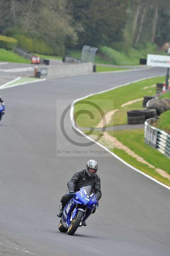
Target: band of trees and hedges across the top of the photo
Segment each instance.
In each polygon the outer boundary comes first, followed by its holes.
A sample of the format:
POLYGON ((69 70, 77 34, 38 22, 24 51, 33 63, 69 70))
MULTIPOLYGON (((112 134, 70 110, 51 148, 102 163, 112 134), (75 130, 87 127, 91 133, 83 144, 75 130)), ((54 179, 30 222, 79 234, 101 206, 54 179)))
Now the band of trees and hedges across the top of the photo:
POLYGON ((45 54, 83 44, 127 53, 170 41, 169 0, 1 0, 0 10, 0 33, 45 54))

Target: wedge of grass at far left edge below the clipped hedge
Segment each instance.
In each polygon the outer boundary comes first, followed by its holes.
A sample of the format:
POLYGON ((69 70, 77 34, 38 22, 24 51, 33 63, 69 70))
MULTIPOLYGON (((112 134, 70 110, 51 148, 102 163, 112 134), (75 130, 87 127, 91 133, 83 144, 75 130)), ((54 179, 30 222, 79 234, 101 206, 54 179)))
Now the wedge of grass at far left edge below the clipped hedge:
POLYGON ((16 63, 31 63, 30 60, 24 59, 16 53, 0 48, 0 61, 16 62, 16 63))

